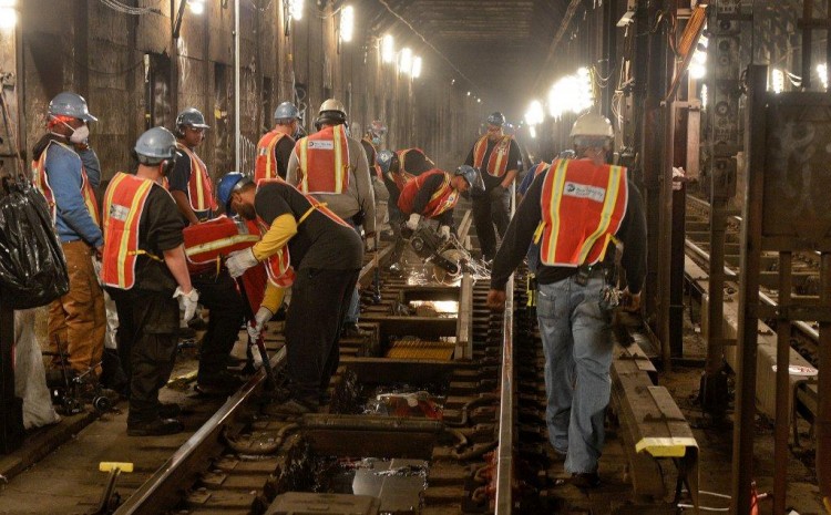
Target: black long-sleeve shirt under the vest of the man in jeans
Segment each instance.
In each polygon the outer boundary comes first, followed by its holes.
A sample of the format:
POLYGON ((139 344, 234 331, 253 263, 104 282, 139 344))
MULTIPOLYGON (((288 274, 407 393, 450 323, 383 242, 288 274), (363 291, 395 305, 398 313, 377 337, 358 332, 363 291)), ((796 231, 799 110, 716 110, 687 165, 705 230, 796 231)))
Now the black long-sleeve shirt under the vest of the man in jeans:
MULTIPOLYGON (((527 253, 534 231, 542 220, 540 198, 546 175, 547 172, 534 179, 516 209, 516 215, 507 226, 505 237, 502 239, 502 245, 493 260, 493 269, 491 270, 491 288, 493 289, 505 289, 507 278, 520 266, 527 253)), ((632 181, 627 181, 627 183, 629 197, 626 204, 626 213, 615 236, 624 244, 622 265, 626 270, 629 291, 638 293, 646 275, 646 218, 640 192, 632 181)), ((564 230, 567 230, 567 228, 564 230)), ((613 266, 614 259, 615 253, 609 249, 604 262, 613 266)), ((541 285, 550 285, 576 272, 577 269, 574 267, 550 267, 541 264, 536 271, 536 281, 541 285)))

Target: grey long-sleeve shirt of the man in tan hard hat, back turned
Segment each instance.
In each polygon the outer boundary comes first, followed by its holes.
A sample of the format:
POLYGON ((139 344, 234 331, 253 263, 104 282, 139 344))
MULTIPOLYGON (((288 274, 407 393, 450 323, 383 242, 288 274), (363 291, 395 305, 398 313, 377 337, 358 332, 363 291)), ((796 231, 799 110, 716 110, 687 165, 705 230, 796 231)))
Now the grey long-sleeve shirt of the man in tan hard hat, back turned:
MULTIPOLYGON (((347 137, 349 144, 349 188, 346 193, 315 194, 315 197, 327 204, 336 215, 349 222, 358 212, 363 210, 363 230, 376 231, 376 196, 372 178, 369 174, 367 154, 360 142, 347 137)), ((299 142, 298 142, 299 144, 299 142)), ((291 153, 286 171, 286 182, 297 186, 299 166, 297 152, 291 153)))

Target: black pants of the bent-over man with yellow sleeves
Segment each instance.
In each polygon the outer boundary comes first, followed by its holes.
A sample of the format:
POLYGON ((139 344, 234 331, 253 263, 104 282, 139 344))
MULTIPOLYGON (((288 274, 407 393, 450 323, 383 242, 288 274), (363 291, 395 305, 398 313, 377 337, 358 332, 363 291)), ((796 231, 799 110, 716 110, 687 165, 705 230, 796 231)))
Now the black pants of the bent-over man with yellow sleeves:
POLYGON ((338 369, 340 328, 359 270, 298 270, 286 316, 288 375, 298 400, 317 405, 338 369))

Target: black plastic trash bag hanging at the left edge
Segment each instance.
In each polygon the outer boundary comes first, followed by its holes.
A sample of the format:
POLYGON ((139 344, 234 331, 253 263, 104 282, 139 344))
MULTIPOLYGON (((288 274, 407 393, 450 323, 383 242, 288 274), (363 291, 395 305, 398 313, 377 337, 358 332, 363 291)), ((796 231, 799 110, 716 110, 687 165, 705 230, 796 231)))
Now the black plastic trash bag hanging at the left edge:
POLYGON ((45 306, 69 291, 63 249, 47 199, 29 181, 2 178, 0 297, 13 309, 45 306))

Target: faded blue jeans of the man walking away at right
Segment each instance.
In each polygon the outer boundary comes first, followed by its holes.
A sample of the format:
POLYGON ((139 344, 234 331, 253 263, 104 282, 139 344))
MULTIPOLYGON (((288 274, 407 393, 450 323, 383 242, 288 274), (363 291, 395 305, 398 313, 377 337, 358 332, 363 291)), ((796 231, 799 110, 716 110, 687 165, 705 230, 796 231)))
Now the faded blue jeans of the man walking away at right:
POLYGON ((602 271, 585 286, 575 278, 540 285, 536 316, 545 352, 548 441, 566 455, 565 470, 581 473, 596 472, 603 451, 613 341, 612 311, 599 306, 602 271))

